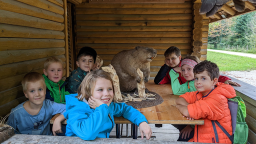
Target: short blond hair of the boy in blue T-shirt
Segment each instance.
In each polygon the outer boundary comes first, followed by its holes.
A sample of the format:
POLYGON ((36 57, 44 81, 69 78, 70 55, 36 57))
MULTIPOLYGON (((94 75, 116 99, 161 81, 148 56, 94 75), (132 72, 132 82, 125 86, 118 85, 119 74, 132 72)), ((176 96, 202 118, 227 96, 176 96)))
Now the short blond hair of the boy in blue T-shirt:
POLYGON ((35 83, 37 81, 42 81, 43 87, 44 87, 44 89, 46 89, 46 85, 45 85, 44 78, 43 78, 42 74, 40 74, 38 72, 26 73, 21 81, 23 92, 26 92, 26 90, 27 90, 26 86, 28 83, 30 83, 30 82, 35 83))

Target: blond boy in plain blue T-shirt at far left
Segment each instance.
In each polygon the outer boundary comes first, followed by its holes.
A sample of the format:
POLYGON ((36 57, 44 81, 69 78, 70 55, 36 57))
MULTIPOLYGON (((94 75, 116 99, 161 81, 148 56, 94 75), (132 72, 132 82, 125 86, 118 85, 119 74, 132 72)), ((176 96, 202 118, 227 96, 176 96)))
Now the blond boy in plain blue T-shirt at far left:
MULTIPOLYGON (((25 74, 22 80, 22 88, 25 102, 11 109, 8 124, 16 129, 15 133, 52 135, 50 132, 50 119, 56 113, 65 112, 65 104, 56 103, 45 98, 46 85, 40 73, 30 72, 25 74)), ((54 120, 52 126, 53 135, 62 133, 61 122, 63 115, 54 120)))

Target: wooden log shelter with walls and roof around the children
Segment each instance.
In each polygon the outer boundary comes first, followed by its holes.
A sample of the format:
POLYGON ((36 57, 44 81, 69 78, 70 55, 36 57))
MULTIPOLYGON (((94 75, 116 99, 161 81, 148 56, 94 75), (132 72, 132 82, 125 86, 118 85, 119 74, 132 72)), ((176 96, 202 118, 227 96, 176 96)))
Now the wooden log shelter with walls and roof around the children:
MULTIPOLYGON (((204 60, 209 22, 255 10, 246 1, 245 11, 237 12, 229 1, 206 17, 199 14, 200 5, 200 0, 0 0, 0 116, 26 100, 23 76, 43 73, 48 57, 63 61, 67 77, 83 46, 93 47, 103 66, 121 50, 149 46, 157 50, 150 63, 152 79, 166 48, 177 46, 182 57, 204 60)), ((255 138, 253 128, 249 134, 255 138)))

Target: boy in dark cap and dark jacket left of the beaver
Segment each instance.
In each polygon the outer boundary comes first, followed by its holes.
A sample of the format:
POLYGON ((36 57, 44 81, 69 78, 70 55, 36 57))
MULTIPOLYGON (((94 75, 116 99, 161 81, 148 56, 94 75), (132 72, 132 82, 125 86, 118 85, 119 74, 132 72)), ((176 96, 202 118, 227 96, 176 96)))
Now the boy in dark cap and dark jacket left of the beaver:
POLYGON ((77 55, 77 69, 73 70, 67 77, 66 88, 70 93, 77 93, 77 89, 85 75, 93 68, 97 52, 88 46, 82 47, 77 55))

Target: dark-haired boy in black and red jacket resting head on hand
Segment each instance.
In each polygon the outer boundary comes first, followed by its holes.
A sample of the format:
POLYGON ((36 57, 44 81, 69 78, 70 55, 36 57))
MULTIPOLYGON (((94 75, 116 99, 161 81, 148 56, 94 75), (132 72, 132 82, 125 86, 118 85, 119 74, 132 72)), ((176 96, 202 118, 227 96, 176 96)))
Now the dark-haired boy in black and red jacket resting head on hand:
MULTIPOLYGON (((170 83, 170 76, 169 71, 171 68, 179 67, 181 63, 181 54, 180 50, 176 46, 170 46, 168 49, 164 52, 164 63, 160 70, 157 72, 156 76, 154 77, 154 83, 155 84, 164 84, 164 83, 170 83)), ((178 76, 179 83, 185 83, 186 80, 184 77, 182 77, 179 73, 178 76)))

